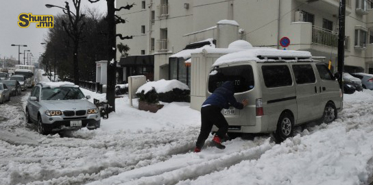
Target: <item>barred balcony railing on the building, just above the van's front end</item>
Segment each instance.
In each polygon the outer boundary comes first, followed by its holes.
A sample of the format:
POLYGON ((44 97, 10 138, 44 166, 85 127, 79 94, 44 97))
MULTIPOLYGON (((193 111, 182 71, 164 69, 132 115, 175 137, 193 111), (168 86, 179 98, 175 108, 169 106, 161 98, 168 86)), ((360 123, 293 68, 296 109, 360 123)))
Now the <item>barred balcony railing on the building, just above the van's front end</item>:
MULTIPOLYGON (((338 33, 333 32, 322 27, 312 27, 312 42, 318 45, 325 45, 329 47, 338 47, 338 33)), ((345 37, 345 49, 348 50, 348 43, 350 38, 345 37)))

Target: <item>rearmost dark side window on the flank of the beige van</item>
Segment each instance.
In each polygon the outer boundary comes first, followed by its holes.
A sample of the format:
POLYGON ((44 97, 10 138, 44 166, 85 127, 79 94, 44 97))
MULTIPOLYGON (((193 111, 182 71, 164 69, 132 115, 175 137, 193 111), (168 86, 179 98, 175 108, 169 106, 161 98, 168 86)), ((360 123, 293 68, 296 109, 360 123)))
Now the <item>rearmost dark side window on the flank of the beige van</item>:
POLYGON ((291 86, 289 67, 286 65, 262 66, 264 83, 267 88, 291 86))

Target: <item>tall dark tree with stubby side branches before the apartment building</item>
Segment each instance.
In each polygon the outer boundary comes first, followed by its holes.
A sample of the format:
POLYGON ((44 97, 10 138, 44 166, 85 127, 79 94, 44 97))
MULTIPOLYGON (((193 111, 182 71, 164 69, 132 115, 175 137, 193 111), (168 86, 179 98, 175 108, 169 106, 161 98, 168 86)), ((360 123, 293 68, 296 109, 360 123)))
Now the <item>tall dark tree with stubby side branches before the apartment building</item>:
MULTIPOLYGON (((100 0, 88 0, 91 3, 96 3, 100 0)), ((109 105, 112 107, 112 111, 115 111, 115 82, 117 73, 117 60, 116 60, 116 47, 115 41, 116 37, 119 36, 121 40, 131 39, 132 36, 122 36, 121 34, 116 34, 116 25, 119 23, 125 23, 125 20, 117 15, 122 9, 130 10, 135 4, 127 4, 119 9, 115 8, 115 0, 106 0, 106 5, 108 6, 108 14, 106 15, 106 21, 108 21, 108 86, 106 90, 106 99, 109 105)))

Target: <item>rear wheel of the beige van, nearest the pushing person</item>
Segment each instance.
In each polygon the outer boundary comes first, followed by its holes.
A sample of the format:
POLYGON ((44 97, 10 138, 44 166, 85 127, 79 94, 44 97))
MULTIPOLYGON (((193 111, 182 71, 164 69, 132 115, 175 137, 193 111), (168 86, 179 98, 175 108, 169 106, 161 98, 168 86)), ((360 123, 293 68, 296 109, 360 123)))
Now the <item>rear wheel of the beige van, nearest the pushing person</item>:
POLYGON ((293 136, 293 116, 287 112, 283 112, 278 119, 275 137, 278 142, 282 142, 285 139, 293 136))

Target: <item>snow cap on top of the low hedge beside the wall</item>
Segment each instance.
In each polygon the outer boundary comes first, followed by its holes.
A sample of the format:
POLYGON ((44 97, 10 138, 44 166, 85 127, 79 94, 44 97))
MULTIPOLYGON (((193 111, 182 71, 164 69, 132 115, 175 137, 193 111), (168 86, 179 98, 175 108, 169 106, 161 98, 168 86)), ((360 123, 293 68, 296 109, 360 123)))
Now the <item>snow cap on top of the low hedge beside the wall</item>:
POLYGON ((156 89, 157 93, 166 93, 168 91, 173 90, 174 88, 180 88, 181 90, 189 90, 189 87, 186 86, 186 84, 176 79, 160 79, 156 82, 147 82, 146 84, 143 84, 143 86, 137 89, 136 93, 141 93, 141 91, 144 90, 144 93, 146 94, 147 92, 152 90, 153 87, 156 89))

